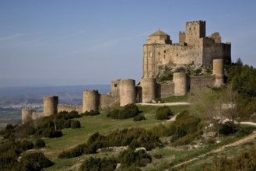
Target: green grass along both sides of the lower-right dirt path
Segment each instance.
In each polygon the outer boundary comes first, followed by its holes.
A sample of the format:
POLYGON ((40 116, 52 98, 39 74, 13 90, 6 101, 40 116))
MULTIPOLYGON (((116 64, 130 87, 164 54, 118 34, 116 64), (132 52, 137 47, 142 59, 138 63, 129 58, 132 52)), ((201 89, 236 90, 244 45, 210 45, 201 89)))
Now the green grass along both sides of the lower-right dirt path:
MULTIPOLYGON (((250 129, 251 131, 255 130, 255 127, 252 126, 246 126, 241 125, 241 127, 247 127, 247 129, 250 129)), ((243 134, 243 136, 240 136, 238 134, 233 134, 230 136, 223 136, 220 137, 219 140, 221 141, 219 144, 213 144, 213 145, 205 145, 203 148, 195 148, 195 149, 186 149, 186 148, 174 148, 171 145, 167 145, 164 148, 158 148, 155 149, 152 153, 163 155, 163 158, 161 159, 161 162, 152 163, 146 166, 146 170, 160 170, 160 169, 171 169, 173 166, 188 161, 189 159, 193 159, 195 157, 198 157, 200 155, 203 155, 207 152, 211 152, 212 150, 219 148, 223 145, 228 145, 234 141, 239 140, 240 138, 246 136, 246 134, 243 134)), ((251 142, 247 143, 246 145, 240 145, 235 147, 229 147, 225 148, 223 152, 219 152, 218 156, 234 156, 237 154, 237 152, 245 149, 245 148, 251 148, 251 146, 254 145, 254 148, 256 148, 256 143, 251 142)), ((186 168, 187 170, 201 170, 201 165, 205 164, 206 162, 212 163, 214 157, 216 154, 209 154, 206 156, 200 157, 198 160, 195 160, 193 162, 189 162, 187 165, 181 166, 179 169, 186 168)))

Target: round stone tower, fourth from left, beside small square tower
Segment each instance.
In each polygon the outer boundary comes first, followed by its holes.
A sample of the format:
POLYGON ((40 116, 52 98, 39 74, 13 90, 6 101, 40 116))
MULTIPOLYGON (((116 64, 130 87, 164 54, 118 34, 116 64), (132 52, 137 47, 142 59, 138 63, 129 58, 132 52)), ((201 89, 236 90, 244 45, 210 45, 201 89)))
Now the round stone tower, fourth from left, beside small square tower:
POLYGON ((136 102, 135 80, 122 79, 120 82, 120 106, 136 102))

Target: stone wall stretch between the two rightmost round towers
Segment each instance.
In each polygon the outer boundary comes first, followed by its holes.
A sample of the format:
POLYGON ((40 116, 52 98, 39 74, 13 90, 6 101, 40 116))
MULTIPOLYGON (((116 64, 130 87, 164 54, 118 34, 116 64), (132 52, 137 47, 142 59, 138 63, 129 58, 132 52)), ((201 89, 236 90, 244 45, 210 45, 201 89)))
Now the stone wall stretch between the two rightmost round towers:
POLYGON ((215 83, 215 75, 190 76, 190 91, 198 87, 213 86, 215 83))

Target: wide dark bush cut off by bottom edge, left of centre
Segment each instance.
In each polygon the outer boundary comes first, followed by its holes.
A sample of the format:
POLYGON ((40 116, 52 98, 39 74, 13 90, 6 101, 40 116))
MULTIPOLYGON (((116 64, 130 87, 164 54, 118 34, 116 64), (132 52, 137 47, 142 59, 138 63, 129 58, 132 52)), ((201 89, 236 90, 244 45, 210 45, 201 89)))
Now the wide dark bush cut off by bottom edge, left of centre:
POLYGON ((114 170, 117 167, 117 160, 114 159, 114 157, 110 158, 93 158, 90 157, 89 159, 86 159, 85 162, 82 163, 82 166, 80 166, 81 171, 89 171, 89 170, 114 170))

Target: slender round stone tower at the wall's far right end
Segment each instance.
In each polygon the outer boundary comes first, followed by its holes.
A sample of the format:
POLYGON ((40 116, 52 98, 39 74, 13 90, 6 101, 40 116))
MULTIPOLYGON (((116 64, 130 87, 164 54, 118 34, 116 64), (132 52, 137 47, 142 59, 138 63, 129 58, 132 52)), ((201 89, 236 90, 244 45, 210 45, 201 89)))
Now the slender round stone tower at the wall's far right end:
POLYGON ((212 74, 215 75, 215 84, 214 86, 223 86, 224 83, 224 63, 223 59, 214 59, 213 60, 213 72, 212 74))

